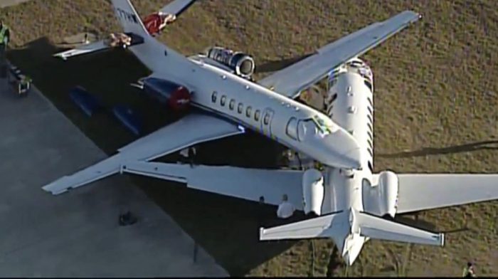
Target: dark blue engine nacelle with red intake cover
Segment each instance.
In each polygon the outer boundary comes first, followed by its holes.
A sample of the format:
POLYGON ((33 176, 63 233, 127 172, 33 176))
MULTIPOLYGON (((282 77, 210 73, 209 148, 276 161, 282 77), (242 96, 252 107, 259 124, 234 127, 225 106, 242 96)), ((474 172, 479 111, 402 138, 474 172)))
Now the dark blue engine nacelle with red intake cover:
POLYGON ((140 88, 159 102, 174 110, 185 110, 191 100, 191 92, 179 84, 161 78, 143 78, 140 88))

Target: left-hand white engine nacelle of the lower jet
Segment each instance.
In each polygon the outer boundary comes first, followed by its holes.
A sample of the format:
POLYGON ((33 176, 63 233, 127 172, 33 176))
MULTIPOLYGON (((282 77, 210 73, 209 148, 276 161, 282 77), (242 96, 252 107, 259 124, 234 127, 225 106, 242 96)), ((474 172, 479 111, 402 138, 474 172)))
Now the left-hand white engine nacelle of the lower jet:
POLYGON ((302 176, 302 202, 304 214, 322 214, 324 177, 317 169, 307 169, 302 176))

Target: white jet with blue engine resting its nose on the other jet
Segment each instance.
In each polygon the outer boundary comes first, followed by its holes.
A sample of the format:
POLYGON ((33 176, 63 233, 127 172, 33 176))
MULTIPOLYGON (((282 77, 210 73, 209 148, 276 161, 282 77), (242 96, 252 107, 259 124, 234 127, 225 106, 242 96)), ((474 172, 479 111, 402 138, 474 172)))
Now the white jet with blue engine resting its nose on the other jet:
MULTIPOLYGON (((179 6, 179 0, 173 3, 179 6)), ((254 83, 247 77, 254 68, 247 55, 211 48, 204 56, 186 58, 149 35, 128 0, 113 0, 112 5, 124 34, 131 38, 127 49, 153 72, 139 80, 137 86, 176 110, 189 105, 206 113, 192 112, 179 122, 119 149, 115 156, 43 186, 53 194, 120 172, 124 162, 149 161, 193 144, 242 134, 246 128, 331 167, 359 169, 364 155, 356 139, 327 115, 293 98, 326 77, 329 70, 419 19, 418 14, 405 11, 388 21, 374 23, 254 83)), ((101 50, 99 43, 95 43, 97 51, 101 50)), ((91 52, 92 46, 83 48, 91 52)), ((72 50, 56 56, 68 58, 78 54, 83 53, 72 50)))

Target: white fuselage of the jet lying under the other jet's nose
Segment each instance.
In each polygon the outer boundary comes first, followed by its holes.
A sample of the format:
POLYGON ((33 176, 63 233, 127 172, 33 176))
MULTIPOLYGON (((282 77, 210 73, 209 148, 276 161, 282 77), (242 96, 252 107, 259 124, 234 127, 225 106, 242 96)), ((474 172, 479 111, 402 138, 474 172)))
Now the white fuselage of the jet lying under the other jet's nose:
POLYGON ((328 167, 325 174, 324 214, 350 212, 350 228, 334 242, 346 261, 359 255, 366 238, 356 231, 354 212, 364 211, 364 187, 370 186, 373 172, 373 75, 368 65, 355 59, 334 70, 329 77, 327 115, 348 130, 359 143, 361 169, 328 167))

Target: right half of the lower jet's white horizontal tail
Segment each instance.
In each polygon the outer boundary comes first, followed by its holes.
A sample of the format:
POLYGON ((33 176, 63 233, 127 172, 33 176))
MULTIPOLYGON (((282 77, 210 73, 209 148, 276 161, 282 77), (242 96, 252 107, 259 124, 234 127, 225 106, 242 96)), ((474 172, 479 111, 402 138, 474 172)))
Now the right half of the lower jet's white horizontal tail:
POLYGON ((444 246, 443 233, 431 233, 365 213, 356 215, 361 236, 384 241, 444 246))

